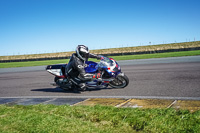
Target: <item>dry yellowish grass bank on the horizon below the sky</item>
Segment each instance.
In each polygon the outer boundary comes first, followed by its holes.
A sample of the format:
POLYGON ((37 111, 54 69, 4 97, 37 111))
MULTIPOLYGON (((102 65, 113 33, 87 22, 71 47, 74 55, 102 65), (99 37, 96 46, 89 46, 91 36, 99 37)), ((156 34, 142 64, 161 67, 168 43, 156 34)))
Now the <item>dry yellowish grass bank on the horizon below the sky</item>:
MULTIPOLYGON (((74 46, 75 48, 76 46, 74 46)), ((147 45, 137 47, 121 47, 121 48, 108 48, 91 50, 94 54, 112 54, 112 53, 129 53, 129 52, 144 52, 144 51, 160 51, 169 49, 183 49, 200 47, 200 41, 182 42, 171 44, 147 45)), ((69 57, 72 52, 58 52, 58 53, 45 53, 45 54, 30 54, 30 55, 14 55, 14 56, 0 56, 0 60, 17 60, 17 59, 38 59, 38 58, 52 58, 52 57, 69 57)))

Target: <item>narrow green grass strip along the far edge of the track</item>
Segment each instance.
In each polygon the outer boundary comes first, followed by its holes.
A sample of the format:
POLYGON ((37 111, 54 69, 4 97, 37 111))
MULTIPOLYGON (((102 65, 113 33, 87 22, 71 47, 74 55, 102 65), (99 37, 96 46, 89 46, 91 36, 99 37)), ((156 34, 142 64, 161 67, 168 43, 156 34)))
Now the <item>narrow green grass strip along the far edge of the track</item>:
MULTIPOLYGON (((182 52, 168 52, 168 53, 157 53, 157 54, 112 56, 112 58, 114 58, 115 60, 134 60, 134 59, 149 59, 149 58, 166 58, 166 57, 194 56, 194 55, 200 55, 200 50, 182 51, 182 52)), ((92 61, 97 61, 96 59, 91 59, 91 60, 92 61)), ((42 65, 67 63, 68 61, 69 61, 69 59, 0 63, 0 68, 42 66, 42 65)))

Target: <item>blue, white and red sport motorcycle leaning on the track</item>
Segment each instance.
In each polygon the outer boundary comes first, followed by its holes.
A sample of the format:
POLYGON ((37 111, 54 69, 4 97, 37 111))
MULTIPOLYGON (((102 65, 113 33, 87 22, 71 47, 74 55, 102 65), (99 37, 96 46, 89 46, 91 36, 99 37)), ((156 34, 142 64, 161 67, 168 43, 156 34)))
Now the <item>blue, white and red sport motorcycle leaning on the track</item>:
MULTIPOLYGON (((100 62, 93 61, 85 62, 86 73, 102 72, 100 79, 86 81, 87 88, 125 88, 129 84, 128 77, 121 72, 119 64, 113 59, 101 56, 100 62)), ((77 88, 69 79, 70 77, 65 74, 65 67, 67 64, 48 65, 46 70, 55 76, 52 85, 58 86, 64 90, 77 88)))

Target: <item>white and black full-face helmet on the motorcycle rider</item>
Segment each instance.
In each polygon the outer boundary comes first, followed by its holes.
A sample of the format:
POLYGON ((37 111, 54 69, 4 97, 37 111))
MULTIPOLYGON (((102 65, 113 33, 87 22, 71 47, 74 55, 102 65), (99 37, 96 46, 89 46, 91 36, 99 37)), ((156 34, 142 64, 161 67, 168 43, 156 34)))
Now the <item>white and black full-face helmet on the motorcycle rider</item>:
POLYGON ((76 48, 76 54, 78 55, 78 57, 83 60, 83 61, 87 61, 88 57, 89 57, 89 50, 88 47, 85 45, 78 45, 76 48))

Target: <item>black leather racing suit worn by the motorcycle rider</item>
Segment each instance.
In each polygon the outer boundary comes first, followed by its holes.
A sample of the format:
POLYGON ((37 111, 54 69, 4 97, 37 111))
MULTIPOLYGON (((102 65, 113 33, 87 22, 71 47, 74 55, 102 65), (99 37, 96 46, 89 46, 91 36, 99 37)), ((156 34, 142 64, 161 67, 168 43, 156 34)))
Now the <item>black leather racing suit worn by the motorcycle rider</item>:
MULTIPOLYGON (((89 53, 89 58, 100 59, 100 56, 89 53)), ((85 62, 77 57, 77 54, 72 54, 69 63, 65 68, 65 73, 70 77, 70 80, 79 86, 79 84, 89 81, 95 77, 95 74, 85 72, 85 62)))

